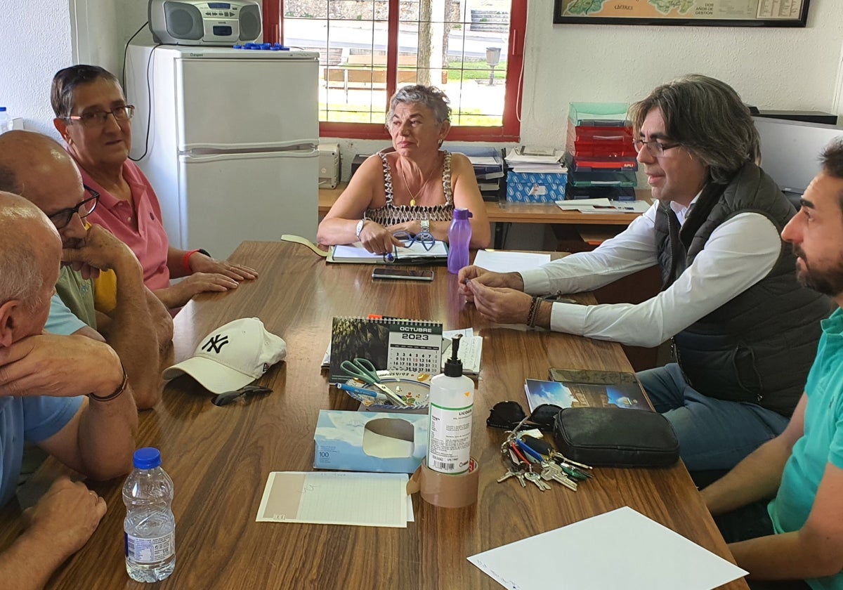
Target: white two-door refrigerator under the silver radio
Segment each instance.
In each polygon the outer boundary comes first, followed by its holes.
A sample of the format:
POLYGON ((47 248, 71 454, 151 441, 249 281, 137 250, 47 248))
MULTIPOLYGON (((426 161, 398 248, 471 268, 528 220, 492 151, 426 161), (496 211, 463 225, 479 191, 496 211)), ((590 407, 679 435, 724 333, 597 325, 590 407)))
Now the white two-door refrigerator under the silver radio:
POLYGON ((228 258, 246 239, 316 239, 319 54, 129 46, 132 159, 169 243, 228 258))

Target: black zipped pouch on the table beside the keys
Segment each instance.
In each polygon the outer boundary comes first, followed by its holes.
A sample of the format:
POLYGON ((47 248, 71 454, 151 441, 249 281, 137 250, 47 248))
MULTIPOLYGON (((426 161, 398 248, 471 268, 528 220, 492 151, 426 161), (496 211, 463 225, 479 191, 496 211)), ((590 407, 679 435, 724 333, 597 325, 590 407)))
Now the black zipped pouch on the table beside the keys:
POLYGON ((556 448, 593 467, 668 467, 679 441, 658 412, 623 408, 566 408, 553 424, 556 448))

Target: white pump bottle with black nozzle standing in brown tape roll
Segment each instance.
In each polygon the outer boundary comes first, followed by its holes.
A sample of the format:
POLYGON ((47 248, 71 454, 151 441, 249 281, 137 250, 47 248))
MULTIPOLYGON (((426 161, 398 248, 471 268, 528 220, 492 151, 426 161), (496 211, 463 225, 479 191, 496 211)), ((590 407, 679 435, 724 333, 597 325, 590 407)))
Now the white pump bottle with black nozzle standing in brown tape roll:
POLYGON ((427 410, 427 469, 451 475, 469 470, 474 410, 474 381, 463 375, 463 363, 457 358, 459 339, 456 335, 451 342, 445 372, 430 380, 427 410))

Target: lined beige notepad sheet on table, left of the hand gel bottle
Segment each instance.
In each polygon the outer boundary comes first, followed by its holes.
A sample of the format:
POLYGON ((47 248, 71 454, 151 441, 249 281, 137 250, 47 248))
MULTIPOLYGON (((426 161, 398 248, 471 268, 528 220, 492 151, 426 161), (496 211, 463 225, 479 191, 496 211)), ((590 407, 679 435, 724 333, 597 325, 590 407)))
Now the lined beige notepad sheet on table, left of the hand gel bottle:
POLYGON ((406 528, 407 480, 401 473, 273 471, 255 522, 406 528))

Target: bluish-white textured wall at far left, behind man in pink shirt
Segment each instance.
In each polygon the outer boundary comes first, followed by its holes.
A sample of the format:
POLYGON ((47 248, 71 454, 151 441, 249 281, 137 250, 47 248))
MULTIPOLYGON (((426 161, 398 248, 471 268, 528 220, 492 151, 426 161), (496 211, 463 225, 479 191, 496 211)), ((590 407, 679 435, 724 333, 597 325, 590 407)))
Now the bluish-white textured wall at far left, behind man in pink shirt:
POLYGON ((72 63, 67 0, 0 0, 0 106, 24 126, 52 132, 50 83, 72 63))

